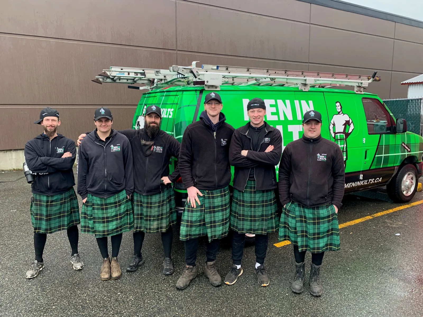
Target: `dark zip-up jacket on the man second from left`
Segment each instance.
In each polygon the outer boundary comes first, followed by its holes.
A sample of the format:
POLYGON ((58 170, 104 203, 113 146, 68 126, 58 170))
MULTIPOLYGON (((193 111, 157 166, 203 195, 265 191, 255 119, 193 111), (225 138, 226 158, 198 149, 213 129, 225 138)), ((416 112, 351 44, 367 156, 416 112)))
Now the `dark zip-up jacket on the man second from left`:
MULTIPOLYGON (((96 129, 97 130, 97 129, 96 129)), ((134 167, 127 137, 112 130, 105 141, 92 131, 78 149, 78 194, 108 198, 125 189, 134 191, 134 167)))

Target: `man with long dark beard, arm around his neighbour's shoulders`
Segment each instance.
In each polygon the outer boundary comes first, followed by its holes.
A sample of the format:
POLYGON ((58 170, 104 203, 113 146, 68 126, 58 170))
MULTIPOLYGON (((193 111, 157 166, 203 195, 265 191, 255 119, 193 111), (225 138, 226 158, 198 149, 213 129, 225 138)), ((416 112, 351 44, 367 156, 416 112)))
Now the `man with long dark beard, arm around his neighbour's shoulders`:
MULTIPOLYGON (((170 186, 179 178, 179 169, 169 173, 170 159, 178 158, 181 144, 160 129, 162 110, 152 105, 146 108, 144 128, 122 130, 132 145, 134 160, 134 255, 126 271, 136 271, 145 261, 141 249, 146 233, 160 232, 165 260, 163 274, 173 273, 172 251, 176 209, 173 189, 170 186)), ((80 139, 85 134, 80 135, 80 139)), ((78 141, 79 142, 79 141, 78 141)))

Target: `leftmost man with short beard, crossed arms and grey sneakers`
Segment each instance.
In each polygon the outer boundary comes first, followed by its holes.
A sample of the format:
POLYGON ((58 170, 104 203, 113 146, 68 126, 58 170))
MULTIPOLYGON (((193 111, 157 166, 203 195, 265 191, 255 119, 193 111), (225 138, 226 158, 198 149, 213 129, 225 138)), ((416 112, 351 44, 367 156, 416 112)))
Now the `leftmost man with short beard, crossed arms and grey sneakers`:
POLYGON ((44 132, 25 145, 25 161, 34 175, 31 184, 31 223, 34 228, 35 260, 26 273, 32 279, 44 268, 43 251, 48 233, 67 230, 71 244, 71 263, 81 270, 84 263, 78 253, 80 223, 78 200, 72 167, 76 158, 75 142, 57 133, 59 112, 50 107, 41 110, 35 121, 44 132))

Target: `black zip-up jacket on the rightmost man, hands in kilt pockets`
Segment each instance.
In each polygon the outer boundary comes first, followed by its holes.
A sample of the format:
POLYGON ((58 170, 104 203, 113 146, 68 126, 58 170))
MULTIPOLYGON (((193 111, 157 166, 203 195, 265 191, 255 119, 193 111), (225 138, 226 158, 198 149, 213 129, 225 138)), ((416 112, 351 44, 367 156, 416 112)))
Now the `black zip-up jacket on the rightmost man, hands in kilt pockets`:
POLYGON ((279 198, 307 208, 342 206, 345 167, 341 148, 321 137, 289 142, 279 164, 279 198))

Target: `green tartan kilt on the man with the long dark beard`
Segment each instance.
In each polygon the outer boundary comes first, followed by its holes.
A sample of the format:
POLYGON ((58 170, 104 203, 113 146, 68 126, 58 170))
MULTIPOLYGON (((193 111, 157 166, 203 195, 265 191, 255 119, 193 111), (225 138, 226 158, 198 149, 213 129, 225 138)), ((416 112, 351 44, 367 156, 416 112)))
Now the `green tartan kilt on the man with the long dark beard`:
POLYGON ((159 194, 134 193, 134 232, 166 232, 176 224, 175 197, 169 186, 159 194))

